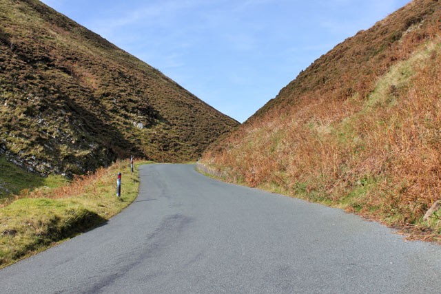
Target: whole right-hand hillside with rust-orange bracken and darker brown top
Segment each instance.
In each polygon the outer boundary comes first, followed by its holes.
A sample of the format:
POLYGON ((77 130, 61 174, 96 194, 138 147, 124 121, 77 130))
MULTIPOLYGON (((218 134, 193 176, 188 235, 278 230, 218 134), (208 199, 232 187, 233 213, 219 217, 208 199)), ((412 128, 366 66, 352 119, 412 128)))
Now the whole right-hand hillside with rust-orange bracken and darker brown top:
POLYGON ((203 164, 250 186, 440 231, 441 3, 415 0, 321 56, 203 164))

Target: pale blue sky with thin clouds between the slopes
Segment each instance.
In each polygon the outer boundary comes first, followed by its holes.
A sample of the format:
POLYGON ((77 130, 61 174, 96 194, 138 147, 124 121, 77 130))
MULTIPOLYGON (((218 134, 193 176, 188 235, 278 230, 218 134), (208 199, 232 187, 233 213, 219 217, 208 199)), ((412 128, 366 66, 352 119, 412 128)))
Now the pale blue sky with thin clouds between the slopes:
POLYGON ((409 0, 43 0, 243 122, 409 0))

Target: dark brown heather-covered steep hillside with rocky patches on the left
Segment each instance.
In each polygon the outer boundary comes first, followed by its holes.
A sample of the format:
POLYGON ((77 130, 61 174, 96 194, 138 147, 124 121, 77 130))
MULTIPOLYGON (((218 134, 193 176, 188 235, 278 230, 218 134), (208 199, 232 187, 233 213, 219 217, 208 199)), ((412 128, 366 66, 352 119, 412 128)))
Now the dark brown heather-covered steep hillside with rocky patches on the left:
POLYGON ((83 174, 134 154, 195 160, 238 125, 37 0, 0 0, 0 155, 83 174))

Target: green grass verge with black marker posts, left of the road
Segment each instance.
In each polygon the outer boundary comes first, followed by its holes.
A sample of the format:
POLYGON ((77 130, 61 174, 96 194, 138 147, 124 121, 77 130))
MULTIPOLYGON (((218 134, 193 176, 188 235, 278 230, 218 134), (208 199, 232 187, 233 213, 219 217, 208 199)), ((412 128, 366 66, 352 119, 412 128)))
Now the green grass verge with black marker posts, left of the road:
POLYGON ((107 221, 133 202, 138 190, 138 169, 132 174, 130 163, 121 161, 63 187, 15 196, 0 208, 0 268, 107 221), (116 197, 118 172, 121 198, 116 197))

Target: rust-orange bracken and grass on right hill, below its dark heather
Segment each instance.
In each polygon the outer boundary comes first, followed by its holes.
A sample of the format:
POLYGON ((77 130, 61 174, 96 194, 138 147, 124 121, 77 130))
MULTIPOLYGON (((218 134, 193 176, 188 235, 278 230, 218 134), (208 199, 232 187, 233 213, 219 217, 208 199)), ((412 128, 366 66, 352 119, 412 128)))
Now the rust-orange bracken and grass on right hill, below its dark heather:
POLYGON ((441 210, 423 218, 441 195, 440 62, 437 33, 373 76, 364 94, 293 95, 295 103, 209 147, 201 163, 227 171, 229 182, 339 207, 410 239, 441 243, 441 210))

